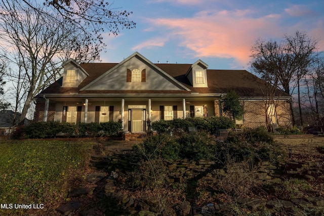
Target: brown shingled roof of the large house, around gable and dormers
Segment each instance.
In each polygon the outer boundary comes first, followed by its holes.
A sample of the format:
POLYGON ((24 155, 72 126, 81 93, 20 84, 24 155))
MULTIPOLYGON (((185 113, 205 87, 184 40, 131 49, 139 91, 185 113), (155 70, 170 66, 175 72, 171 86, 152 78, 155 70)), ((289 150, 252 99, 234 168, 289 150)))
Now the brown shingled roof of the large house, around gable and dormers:
MULTIPOLYGON (((268 84, 255 76, 254 74, 246 70, 211 70, 207 69, 208 88, 193 88, 191 83, 185 74, 191 68, 191 64, 155 64, 161 70, 167 72, 177 81, 182 83, 190 91, 81 91, 87 84, 98 78, 103 73, 107 72, 118 63, 83 63, 80 64, 85 71, 89 74, 87 78, 79 84, 77 88, 61 88, 62 77, 56 82, 51 84, 47 89, 40 94, 147 94, 147 93, 159 93, 159 94, 177 94, 177 93, 199 93, 199 94, 225 94, 231 90, 234 90, 241 97, 263 97, 268 84)), ((282 97, 290 97, 288 94, 277 90, 277 95, 282 97)))

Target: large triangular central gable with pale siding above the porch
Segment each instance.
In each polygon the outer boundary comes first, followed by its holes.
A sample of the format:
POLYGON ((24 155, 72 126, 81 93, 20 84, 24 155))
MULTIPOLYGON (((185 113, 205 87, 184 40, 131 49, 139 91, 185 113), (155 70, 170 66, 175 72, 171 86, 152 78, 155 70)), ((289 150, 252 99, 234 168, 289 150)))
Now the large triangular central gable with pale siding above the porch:
POLYGON ((91 81, 80 91, 87 90, 186 90, 185 85, 135 52, 128 58, 91 81), (127 82, 127 70, 146 70, 145 82, 127 82), (164 83, 161 85, 160 83, 164 83))

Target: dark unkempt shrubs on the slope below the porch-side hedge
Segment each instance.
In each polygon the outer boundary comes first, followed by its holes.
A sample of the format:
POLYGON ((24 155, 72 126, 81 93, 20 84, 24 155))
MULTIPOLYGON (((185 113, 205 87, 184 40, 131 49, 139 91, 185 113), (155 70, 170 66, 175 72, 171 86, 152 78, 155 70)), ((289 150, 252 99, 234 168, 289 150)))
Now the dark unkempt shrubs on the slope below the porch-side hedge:
POLYGON ((232 133, 225 142, 216 142, 206 131, 183 133, 182 136, 158 134, 134 146, 143 159, 217 160, 223 164, 249 160, 277 163, 282 155, 266 128, 245 129, 232 133))

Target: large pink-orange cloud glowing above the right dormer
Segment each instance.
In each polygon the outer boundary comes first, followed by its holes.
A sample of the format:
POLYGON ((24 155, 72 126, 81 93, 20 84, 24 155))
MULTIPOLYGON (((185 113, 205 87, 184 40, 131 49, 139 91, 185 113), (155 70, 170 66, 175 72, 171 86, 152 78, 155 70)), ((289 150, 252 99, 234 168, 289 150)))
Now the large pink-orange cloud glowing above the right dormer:
MULTIPOLYGON (((201 11, 192 18, 159 18, 148 21, 155 28, 166 28, 169 38, 176 39, 179 46, 193 50, 195 57, 235 58, 246 64, 255 35, 273 34, 276 31, 273 23, 280 17, 270 14, 261 18, 249 18, 251 13, 249 10, 201 11)), ((148 40, 138 47, 144 48, 145 44, 151 46, 154 42, 156 40, 148 40)))

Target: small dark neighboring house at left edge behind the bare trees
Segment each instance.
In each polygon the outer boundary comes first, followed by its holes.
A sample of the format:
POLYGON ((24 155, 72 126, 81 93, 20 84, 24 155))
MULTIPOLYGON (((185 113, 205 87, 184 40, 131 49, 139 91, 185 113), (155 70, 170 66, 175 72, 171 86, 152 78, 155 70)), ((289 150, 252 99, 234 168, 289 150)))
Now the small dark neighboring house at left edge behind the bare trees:
MULTIPOLYGON (((12 110, 2 110, 0 111, 0 135, 6 136, 10 135, 14 127, 19 124, 20 113, 16 114, 16 119, 14 121, 15 112, 12 110)), ((25 118, 21 124, 26 125, 29 120, 25 118)))

